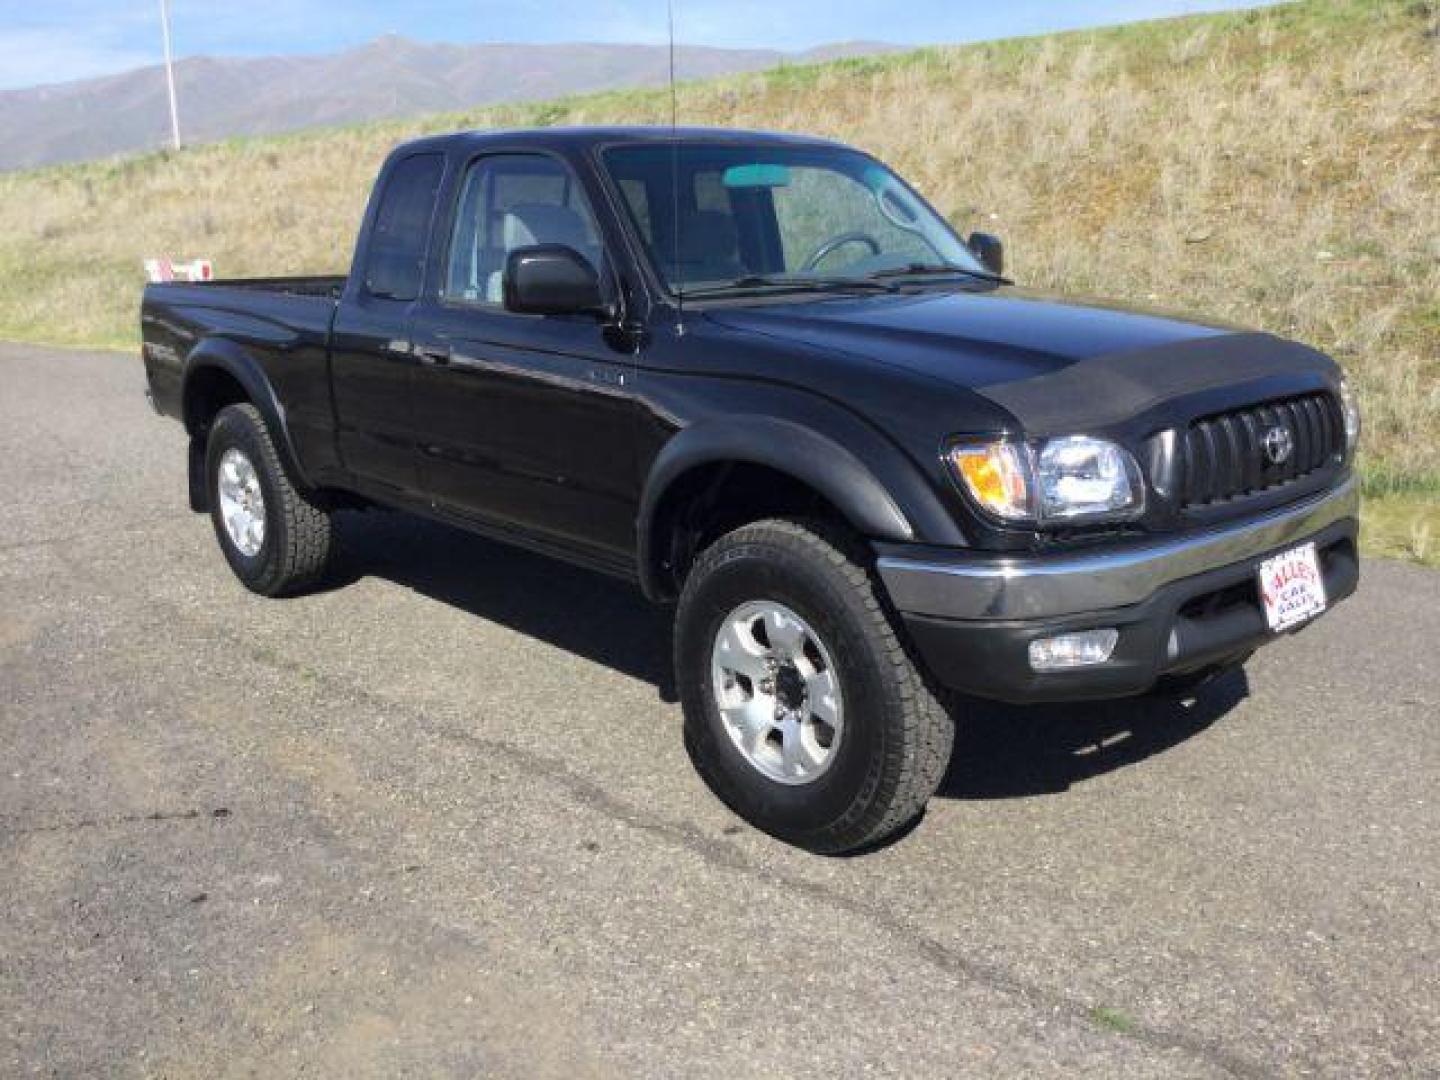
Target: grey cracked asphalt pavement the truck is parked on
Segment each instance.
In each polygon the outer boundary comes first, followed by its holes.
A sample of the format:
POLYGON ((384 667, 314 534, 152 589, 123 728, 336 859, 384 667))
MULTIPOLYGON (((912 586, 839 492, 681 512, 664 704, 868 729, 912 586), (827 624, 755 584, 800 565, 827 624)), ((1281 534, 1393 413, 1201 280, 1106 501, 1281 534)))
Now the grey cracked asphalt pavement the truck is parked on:
POLYGON ((265 600, 135 356, 0 346, 0 1076, 1436 1076, 1440 575, 1192 704, 968 706, 857 858, 665 612, 400 514, 265 600))

